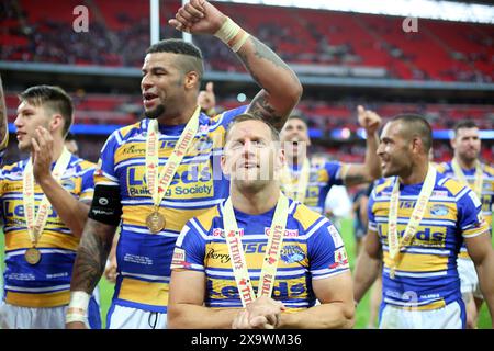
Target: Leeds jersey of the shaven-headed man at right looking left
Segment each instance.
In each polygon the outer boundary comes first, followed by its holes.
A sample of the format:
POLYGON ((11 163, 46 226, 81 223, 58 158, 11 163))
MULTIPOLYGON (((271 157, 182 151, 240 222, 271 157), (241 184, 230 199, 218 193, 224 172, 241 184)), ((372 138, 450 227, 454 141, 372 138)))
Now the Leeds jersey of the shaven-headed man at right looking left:
MULTIPOLYGON (((415 238, 402 249, 395 278, 390 278, 388 215, 395 177, 375 185, 369 200, 369 230, 377 231, 383 250, 383 303, 396 307, 436 309, 461 299, 457 254, 463 238, 489 230, 481 203, 467 186, 437 173, 415 238)), ((403 236, 422 189, 401 185, 397 230, 403 236)))

